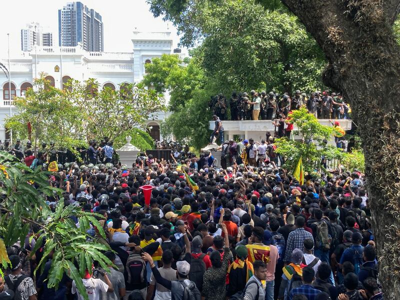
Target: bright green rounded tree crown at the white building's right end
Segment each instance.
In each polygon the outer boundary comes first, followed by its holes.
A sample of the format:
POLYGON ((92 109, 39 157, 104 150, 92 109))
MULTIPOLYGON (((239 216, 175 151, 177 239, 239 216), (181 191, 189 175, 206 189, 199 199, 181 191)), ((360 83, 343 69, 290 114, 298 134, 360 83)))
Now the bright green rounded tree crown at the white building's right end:
POLYGON ((186 60, 187 64, 178 55, 162 54, 146 64, 146 74, 143 83, 151 86, 157 92, 169 91, 168 109, 177 111, 191 99, 192 92, 201 88, 204 82, 203 71, 196 64, 186 60))

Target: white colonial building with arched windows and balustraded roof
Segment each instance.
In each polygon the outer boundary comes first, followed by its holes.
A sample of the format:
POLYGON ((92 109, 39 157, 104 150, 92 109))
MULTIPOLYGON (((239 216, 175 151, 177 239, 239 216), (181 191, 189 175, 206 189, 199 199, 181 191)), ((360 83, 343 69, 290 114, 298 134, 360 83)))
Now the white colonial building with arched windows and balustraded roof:
MULTIPOLYGON (((109 86, 119 89, 124 82, 139 82, 145 74, 144 64, 162 54, 180 53, 173 49, 170 32, 133 32, 132 52, 87 52, 81 46, 46 47, 36 46, 30 52, 11 53, 10 63, 7 57, 0 62, 10 71, 11 93, 6 72, 0 68, 0 139, 8 138, 4 128, 4 119, 11 113, 18 113, 12 105, 12 98, 22 96, 32 86, 32 78, 40 72, 47 73, 47 79, 55 87, 70 78, 86 80, 95 78, 100 88, 109 86), (11 100, 10 100, 11 94, 11 100)), ((166 101, 168 95, 166 95, 166 101)), ((159 123, 165 117, 158 114, 154 120, 147 120, 150 135, 160 140, 159 123)))

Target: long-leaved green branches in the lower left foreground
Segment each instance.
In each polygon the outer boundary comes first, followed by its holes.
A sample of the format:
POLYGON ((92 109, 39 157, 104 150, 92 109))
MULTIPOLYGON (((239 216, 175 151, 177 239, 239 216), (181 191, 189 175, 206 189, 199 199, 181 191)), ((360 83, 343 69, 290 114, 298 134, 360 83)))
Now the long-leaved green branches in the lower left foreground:
MULTIPOLYGON (((85 269, 91 272, 93 260, 107 268, 111 262, 100 252, 108 249, 107 245, 88 241, 86 230, 92 223, 102 228, 95 215, 81 210, 81 207, 68 205, 64 207, 61 190, 48 184, 48 172, 39 168, 32 170, 18 162, 15 156, 0 151, 0 164, 5 172, 0 171, 0 180, 4 183, 0 188, 0 236, 6 246, 17 240, 23 241, 28 233, 36 236, 36 243, 32 249, 34 253, 43 247, 43 256, 36 266, 36 270, 43 269, 45 262, 52 257, 48 273, 48 287, 56 287, 63 273, 74 279, 80 294, 87 293, 82 284, 85 269), (29 182, 34 183, 29 183, 29 182), (46 197, 61 196, 54 212, 45 200, 46 197), (76 216, 79 228, 70 216, 76 216)), ((61 182, 61 180, 60 180, 61 182)), ((96 215, 101 217, 100 215, 96 215)), ((99 230, 105 238, 103 230, 99 230)), ((4 257, 0 257, 4 261, 4 257)), ((2 264, 5 268, 7 265, 2 264)))

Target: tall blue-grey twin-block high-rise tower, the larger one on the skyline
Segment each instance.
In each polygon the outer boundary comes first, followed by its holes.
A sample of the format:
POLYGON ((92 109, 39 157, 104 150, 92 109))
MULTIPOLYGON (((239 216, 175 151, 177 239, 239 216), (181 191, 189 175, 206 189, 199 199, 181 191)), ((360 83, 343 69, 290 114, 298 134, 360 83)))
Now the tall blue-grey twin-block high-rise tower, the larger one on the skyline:
POLYGON ((81 2, 68 2, 58 9, 58 45, 76 46, 78 43, 86 51, 103 51, 103 22, 94 9, 81 2))

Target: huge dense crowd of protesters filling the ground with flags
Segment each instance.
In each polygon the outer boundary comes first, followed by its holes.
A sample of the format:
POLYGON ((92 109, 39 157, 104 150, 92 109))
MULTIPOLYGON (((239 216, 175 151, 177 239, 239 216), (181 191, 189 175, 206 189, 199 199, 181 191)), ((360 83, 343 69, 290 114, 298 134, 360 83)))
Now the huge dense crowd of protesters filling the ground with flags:
MULTIPOLYGON (((62 201, 97 213, 103 227, 92 226, 87 239, 111 249, 104 252, 109 269, 93 261, 81 279, 88 298, 383 298, 362 173, 330 170, 300 184, 265 159, 237 157, 222 168, 210 153, 170 160, 140 153, 132 166, 59 165, 50 180, 63 197, 47 197, 48 205, 54 210, 62 201), (152 188, 148 204, 143 185, 152 188)), ((47 286, 51 256, 33 274, 45 251, 43 244, 28 255, 34 232, 33 224, 25 240, 7 248, 11 267, 0 278, 0 299, 83 299, 66 274, 57 289, 47 286)))

